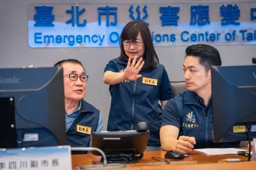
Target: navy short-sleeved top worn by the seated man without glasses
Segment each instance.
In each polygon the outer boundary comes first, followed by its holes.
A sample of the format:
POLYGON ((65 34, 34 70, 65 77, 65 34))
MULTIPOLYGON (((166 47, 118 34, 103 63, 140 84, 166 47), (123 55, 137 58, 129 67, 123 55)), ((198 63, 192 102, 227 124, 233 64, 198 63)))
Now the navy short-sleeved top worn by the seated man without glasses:
POLYGON ((179 136, 193 136, 196 142, 194 149, 239 147, 239 142, 213 142, 212 100, 205 106, 204 99, 195 92, 180 93, 165 104, 161 126, 164 125, 179 128, 179 136))

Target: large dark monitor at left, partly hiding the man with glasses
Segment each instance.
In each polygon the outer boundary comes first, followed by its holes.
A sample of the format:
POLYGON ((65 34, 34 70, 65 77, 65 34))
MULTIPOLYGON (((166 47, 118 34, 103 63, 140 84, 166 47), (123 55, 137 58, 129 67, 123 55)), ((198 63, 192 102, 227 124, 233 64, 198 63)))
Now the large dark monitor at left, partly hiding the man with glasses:
POLYGON ((63 89, 62 67, 0 68, 0 148, 65 145, 63 89))

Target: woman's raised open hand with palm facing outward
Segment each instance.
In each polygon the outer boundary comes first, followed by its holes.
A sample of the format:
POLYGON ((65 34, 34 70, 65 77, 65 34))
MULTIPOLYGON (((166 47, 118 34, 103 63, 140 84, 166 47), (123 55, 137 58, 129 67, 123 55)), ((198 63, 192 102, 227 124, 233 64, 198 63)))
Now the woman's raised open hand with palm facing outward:
POLYGON ((127 67, 125 68, 125 72, 123 73, 124 79, 129 79, 130 81, 136 81, 136 79, 141 77, 141 75, 138 73, 140 73, 140 70, 143 67, 145 62, 142 62, 143 58, 141 57, 138 60, 137 64, 135 64, 137 58, 138 57, 135 56, 132 63, 131 63, 131 58, 129 58, 127 62, 127 67))

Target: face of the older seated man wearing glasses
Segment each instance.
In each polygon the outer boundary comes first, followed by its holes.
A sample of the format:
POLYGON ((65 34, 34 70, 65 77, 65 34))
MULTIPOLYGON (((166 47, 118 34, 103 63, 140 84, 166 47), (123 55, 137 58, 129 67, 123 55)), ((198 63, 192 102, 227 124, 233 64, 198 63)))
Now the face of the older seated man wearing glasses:
POLYGON ((64 95, 65 99, 69 100, 81 100, 86 95, 86 83, 81 81, 78 77, 76 81, 69 79, 69 75, 66 74, 77 74, 82 75, 84 69, 80 64, 63 63, 63 75, 64 76, 64 95))

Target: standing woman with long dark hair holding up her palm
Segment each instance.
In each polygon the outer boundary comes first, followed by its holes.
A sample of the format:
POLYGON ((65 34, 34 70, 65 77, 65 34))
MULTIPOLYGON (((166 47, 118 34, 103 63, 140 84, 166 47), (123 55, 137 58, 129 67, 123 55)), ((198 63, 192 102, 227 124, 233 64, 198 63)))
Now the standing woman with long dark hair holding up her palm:
POLYGON ((147 25, 136 20, 128 23, 120 36, 120 49, 120 57, 104 70, 104 83, 110 85, 112 97, 107 131, 133 130, 145 121, 150 130, 147 150, 160 150, 162 108, 172 97, 172 89, 147 25))

